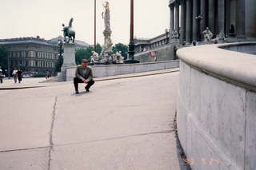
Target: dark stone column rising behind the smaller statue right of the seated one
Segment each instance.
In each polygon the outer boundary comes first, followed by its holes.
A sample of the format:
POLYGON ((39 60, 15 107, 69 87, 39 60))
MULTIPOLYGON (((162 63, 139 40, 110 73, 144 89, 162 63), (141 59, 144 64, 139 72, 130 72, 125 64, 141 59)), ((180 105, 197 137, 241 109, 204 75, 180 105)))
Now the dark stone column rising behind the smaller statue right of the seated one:
POLYGON ((225 30, 225 0, 218 0, 218 32, 224 32, 225 30))

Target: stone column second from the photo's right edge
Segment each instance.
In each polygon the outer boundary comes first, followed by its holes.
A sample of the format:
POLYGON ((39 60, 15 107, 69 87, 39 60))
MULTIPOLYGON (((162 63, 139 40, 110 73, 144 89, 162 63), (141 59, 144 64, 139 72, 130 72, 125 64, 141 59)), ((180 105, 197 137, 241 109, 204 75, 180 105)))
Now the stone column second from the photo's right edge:
POLYGON ((238 38, 246 36, 246 6, 245 0, 237 0, 236 33, 238 38))

